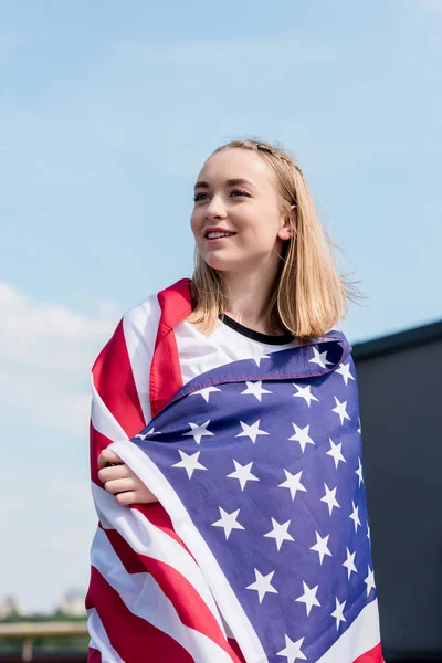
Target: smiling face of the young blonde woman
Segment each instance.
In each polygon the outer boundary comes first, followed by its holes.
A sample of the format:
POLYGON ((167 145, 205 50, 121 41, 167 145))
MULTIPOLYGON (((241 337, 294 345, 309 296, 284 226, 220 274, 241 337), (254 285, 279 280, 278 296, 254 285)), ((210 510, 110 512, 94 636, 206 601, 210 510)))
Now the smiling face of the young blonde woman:
POLYGON ((291 234, 281 203, 275 175, 257 154, 229 148, 210 157, 198 176, 190 219, 202 259, 220 272, 276 269, 291 234))

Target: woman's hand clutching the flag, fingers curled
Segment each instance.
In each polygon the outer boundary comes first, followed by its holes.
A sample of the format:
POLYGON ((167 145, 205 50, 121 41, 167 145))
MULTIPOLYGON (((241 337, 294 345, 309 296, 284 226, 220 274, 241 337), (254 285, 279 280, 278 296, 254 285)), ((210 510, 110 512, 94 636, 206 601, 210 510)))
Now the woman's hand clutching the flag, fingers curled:
POLYGON ((158 502, 140 478, 110 449, 98 456, 98 478, 107 493, 115 495, 118 504, 151 504, 158 502), (112 463, 112 465, 109 465, 112 463))

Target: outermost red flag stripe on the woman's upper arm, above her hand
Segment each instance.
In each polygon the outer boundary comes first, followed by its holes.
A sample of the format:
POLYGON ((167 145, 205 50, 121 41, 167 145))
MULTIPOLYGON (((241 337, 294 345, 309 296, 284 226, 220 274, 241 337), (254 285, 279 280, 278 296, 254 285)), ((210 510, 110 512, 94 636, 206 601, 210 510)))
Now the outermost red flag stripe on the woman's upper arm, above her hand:
POLYGON ((99 397, 127 436, 133 438, 139 433, 146 424, 131 372, 123 320, 99 352, 92 375, 99 397))

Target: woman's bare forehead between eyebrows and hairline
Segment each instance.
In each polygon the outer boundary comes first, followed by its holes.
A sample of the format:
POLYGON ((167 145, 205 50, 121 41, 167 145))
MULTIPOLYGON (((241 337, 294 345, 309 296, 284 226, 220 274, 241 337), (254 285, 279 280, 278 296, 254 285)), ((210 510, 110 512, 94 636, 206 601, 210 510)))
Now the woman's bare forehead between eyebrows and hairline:
POLYGON ((256 154, 249 149, 223 149, 203 165, 198 180, 214 183, 219 180, 249 179, 255 185, 274 185, 274 172, 256 154))

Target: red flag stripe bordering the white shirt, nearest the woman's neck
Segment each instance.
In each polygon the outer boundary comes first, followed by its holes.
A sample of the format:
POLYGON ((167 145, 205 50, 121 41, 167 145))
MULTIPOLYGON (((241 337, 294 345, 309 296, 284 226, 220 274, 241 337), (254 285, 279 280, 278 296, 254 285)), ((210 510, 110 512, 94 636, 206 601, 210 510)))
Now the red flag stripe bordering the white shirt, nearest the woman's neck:
POLYGON ((155 352, 150 366, 150 411, 152 418, 170 401, 182 387, 177 340, 173 325, 192 312, 190 280, 181 278, 158 293, 161 317, 158 325, 155 352))

